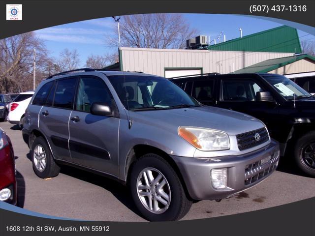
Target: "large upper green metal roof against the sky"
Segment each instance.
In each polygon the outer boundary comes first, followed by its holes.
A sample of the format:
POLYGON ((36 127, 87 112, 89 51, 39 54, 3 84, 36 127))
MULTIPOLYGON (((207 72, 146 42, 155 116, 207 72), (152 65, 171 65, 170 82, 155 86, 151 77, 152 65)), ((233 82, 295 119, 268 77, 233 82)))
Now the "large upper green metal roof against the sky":
POLYGON ((302 53, 297 30, 281 26, 211 45, 208 50, 302 53))

